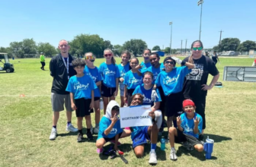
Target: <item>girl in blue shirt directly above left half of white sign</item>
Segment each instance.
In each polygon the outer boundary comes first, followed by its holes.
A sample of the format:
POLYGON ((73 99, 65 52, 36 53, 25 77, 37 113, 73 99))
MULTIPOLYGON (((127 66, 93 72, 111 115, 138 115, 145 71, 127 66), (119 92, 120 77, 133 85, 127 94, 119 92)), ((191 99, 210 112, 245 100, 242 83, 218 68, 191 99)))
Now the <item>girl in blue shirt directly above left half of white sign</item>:
POLYGON ((130 106, 130 103, 132 102, 133 91, 142 83, 142 77, 137 74, 137 65, 139 65, 138 58, 131 58, 130 67, 132 69, 126 73, 123 80, 123 84, 125 85, 123 99, 125 102, 127 100, 128 106, 130 106))

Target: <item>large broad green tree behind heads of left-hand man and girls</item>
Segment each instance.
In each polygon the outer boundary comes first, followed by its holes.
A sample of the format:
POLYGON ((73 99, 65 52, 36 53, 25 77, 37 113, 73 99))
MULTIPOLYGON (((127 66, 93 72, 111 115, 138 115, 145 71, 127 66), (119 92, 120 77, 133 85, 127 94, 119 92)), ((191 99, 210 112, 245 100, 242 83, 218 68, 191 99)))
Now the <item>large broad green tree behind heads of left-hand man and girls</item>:
POLYGON ((83 56, 85 52, 93 52, 96 57, 103 57, 104 39, 98 35, 80 34, 69 42, 72 55, 83 56))

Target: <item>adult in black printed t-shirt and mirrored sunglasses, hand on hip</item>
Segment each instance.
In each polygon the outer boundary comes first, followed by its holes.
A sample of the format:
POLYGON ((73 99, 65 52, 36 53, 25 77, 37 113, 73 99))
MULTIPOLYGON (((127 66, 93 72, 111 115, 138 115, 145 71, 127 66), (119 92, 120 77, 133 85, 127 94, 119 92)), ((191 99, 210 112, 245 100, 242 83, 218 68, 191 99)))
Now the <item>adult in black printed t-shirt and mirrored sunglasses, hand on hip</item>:
MULTIPOLYGON (((211 90, 219 79, 219 71, 212 59, 202 55, 203 43, 200 40, 194 41, 191 45, 192 55, 184 58, 184 61, 194 63, 184 81, 184 99, 192 99, 197 106, 196 112, 203 118, 203 130, 206 128, 205 106, 207 90, 211 90), (208 75, 213 75, 210 85, 207 85, 208 75)), ((202 131, 203 134, 203 131, 202 131)))

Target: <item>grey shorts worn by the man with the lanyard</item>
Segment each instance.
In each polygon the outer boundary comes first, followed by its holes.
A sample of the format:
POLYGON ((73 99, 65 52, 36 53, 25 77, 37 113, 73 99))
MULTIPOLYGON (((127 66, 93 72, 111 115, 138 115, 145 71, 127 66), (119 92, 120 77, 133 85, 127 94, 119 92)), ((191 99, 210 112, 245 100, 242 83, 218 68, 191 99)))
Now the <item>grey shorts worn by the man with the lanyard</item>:
POLYGON ((70 100, 70 95, 62 95, 62 94, 56 94, 52 93, 51 95, 51 101, 52 101, 52 108, 53 112, 61 112, 64 110, 64 104, 66 111, 72 112, 71 108, 71 100, 70 100))

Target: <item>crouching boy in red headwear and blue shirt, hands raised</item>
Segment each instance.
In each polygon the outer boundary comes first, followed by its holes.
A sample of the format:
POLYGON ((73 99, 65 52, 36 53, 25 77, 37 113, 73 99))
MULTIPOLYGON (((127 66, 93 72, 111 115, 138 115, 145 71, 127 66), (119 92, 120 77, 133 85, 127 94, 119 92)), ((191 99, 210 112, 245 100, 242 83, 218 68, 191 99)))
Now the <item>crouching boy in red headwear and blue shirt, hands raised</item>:
POLYGON ((203 151, 203 143, 198 140, 203 128, 203 119, 201 115, 195 112, 196 106, 192 100, 185 99, 183 101, 183 109, 184 113, 177 118, 178 128, 169 128, 168 136, 171 144, 171 160, 177 160, 174 142, 187 142, 188 145, 192 146, 192 149, 194 147, 199 152, 203 151))

